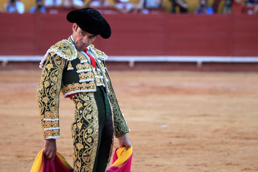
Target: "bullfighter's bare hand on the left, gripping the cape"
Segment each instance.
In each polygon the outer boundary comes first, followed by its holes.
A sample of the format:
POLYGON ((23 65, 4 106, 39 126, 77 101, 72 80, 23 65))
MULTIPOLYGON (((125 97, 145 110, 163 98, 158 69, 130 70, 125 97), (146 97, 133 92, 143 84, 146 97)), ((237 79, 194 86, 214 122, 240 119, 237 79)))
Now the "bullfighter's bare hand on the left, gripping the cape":
POLYGON ((50 163, 52 163, 56 157, 56 139, 46 139, 44 154, 48 159, 50 159, 50 163))

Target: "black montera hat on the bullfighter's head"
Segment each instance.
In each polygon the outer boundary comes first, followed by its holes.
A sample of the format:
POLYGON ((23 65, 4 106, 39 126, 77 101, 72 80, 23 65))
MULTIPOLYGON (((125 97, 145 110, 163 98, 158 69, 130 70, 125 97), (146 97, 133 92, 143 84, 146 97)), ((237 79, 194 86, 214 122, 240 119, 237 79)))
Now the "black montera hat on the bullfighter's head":
POLYGON ((101 13, 93 8, 83 8, 71 11, 66 16, 71 23, 77 23, 85 32, 100 35, 102 38, 111 36, 111 28, 101 13))

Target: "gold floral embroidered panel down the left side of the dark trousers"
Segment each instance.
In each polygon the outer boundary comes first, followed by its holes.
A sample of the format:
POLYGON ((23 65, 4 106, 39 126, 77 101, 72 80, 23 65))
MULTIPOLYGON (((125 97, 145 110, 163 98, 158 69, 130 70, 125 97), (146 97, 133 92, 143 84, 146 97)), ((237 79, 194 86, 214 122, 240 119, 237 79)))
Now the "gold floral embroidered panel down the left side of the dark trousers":
POLYGON ((79 93, 72 100, 76 105, 72 123, 74 170, 92 171, 98 144, 98 110, 92 92, 79 93))

